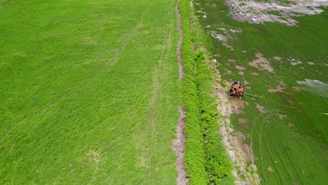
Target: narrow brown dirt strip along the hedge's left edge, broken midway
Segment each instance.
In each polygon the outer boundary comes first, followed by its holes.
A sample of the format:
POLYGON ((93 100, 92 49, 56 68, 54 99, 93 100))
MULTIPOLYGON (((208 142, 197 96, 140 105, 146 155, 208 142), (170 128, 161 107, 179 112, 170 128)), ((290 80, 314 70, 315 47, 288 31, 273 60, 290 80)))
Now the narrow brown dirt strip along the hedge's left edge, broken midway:
MULTIPOLYGON (((179 65, 179 79, 182 80, 184 78, 184 67, 182 65, 182 55, 181 55, 181 46, 182 39, 184 36, 184 32, 181 27, 181 15, 178 9, 180 4, 180 0, 177 1, 177 5, 175 6, 175 13, 177 14, 177 28, 179 29, 179 42, 177 46, 177 57, 178 57, 178 65, 179 65)), ((179 107, 179 121, 177 123, 177 139, 172 141, 172 147, 175 149, 175 153, 177 153, 177 161, 175 161, 175 167, 177 168, 178 177, 177 184, 184 185, 188 183, 188 178, 186 177, 186 170, 184 169, 184 146, 185 139, 184 136, 184 107, 179 107)))

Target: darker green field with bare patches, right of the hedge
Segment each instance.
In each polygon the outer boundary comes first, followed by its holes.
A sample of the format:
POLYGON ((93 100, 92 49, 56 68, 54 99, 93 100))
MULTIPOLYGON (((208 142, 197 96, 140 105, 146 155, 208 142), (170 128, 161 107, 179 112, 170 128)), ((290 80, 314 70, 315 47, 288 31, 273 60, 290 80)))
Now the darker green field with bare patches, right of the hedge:
MULTIPOLYGON (((193 6, 226 93, 233 81, 248 93, 229 101, 235 135, 252 151, 247 163, 257 166, 261 184, 327 184, 327 6, 310 8, 313 15, 288 14, 255 1, 283 15, 271 21, 261 19, 254 1, 250 14, 225 2, 196 0, 193 6)), ((237 173, 245 180, 245 172, 237 173)))

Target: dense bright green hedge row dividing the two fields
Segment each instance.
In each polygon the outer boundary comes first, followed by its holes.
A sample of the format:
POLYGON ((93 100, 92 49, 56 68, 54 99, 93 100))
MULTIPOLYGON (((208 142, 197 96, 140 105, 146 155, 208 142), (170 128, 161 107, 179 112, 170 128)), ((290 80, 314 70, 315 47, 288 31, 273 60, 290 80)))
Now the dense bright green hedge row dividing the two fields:
POLYGON ((179 5, 182 16, 184 39, 182 62, 184 80, 182 97, 186 110, 185 167, 189 184, 229 184, 232 165, 221 144, 217 105, 212 97, 212 71, 207 67, 204 53, 194 53, 193 41, 197 38, 191 32, 190 1, 182 0, 179 5))

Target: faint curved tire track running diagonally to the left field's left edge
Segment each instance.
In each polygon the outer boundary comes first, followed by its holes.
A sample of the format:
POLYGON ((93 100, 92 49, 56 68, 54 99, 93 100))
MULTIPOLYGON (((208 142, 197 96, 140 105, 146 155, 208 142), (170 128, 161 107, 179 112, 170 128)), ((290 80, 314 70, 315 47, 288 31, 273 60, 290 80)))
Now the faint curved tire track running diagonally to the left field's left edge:
POLYGON ((0 136, 0 141, 2 141, 2 139, 4 139, 4 137, 6 137, 9 133, 11 133, 12 130, 14 130, 15 128, 17 128, 18 125, 20 125, 21 123, 23 123, 23 122, 25 122, 27 120, 31 120, 33 118, 33 117, 31 117, 32 115, 38 115, 42 111, 46 111, 46 109, 48 107, 52 107, 53 104, 55 104, 56 102, 59 102, 60 100, 64 100, 65 98, 69 97, 69 95, 73 94, 77 90, 80 90, 81 87, 85 87, 88 83, 91 83, 92 81, 94 81, 95 78, 97 78, 98 76, 100 76, 101 74, 103 74, 104 71, 106 71, 111 65, 113 65, 115 62, 117 62, 119 55, 121 55, 121 53, 123 52, 123 50, 124 50, 125 46, 127 45, 128 41, 130 41, 130 39, 132 38, 133 34, 135 34, 135 32, 137 32, 137 30, 142 26, 142 22, 143 22, 145 16, 146 16, 146 11, 144 11, 142 13, 141 18, 137 22, 137 25, 132 29, 132 31, 130 32, 130 34, 128 34, 128 36, 126 36, 125 39, 123 39, 123 41, 121 42, 122 43, 121 48, 116 52, 116 54, 114 55, 114 57, 104 66, 104 68, 102 68, 99 71, 97 71, 90 78, 87 78, 84 81, 82 81, 81 83, 78 83, 74 87, 70 88, 69 90, 67 90, 67 92, 62 93, 62 95, 60 97, 57 97, 55 100, 53 100, 51 102, 48 102, 45 106, 41 107, 40 109, 37 109, 34 113, 32 113, 32 109, 29 109, 29 111, 27 111, 27 114, 25 114, 25 116, 22 118, 21 121, 18 121, 16 123, 13 123, 12 124, 13 126, 11 126, 11 128, 7 132, 5 132, 3 135, 0 136))

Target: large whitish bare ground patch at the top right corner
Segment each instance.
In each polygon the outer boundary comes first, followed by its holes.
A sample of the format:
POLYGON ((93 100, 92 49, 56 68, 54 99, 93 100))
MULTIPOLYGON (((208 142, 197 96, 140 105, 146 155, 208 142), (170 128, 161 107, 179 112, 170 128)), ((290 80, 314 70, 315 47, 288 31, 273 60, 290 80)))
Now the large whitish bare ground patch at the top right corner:
POLYGON ((254 24, 281 22, 289 26, 298 23, 292 17, 320 14, 323 10, 319 7, 328 6, 328 1, 325 0, 289 0, 288 2, 278 0, 269 2, 226 0, 225 3, 230 7, 230 15, 235 20, 254 24))

